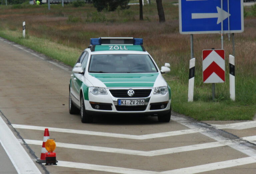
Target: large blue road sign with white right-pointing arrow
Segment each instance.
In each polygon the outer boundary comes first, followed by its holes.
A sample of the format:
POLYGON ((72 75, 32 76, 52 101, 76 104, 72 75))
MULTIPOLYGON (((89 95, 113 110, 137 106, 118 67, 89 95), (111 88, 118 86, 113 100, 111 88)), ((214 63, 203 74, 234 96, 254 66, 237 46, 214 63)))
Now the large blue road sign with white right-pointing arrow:
POLYGON ((220 33, 222 19, 223 33, 240 33, 243 13, 243 0, 223 0, 222 10, 221 0, 179 0, 180 33, 220 33))

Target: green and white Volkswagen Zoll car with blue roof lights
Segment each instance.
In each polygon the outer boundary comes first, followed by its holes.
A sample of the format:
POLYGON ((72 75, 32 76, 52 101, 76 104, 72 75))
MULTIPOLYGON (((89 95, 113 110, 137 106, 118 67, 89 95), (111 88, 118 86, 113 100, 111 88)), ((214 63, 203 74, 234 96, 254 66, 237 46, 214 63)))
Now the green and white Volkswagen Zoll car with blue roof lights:
POLYGON ((171 117, 171 90, 161 70, 136 38, 96 38, 78 58, 69 83, 69 112, 83 123, 94 115, 171 117))

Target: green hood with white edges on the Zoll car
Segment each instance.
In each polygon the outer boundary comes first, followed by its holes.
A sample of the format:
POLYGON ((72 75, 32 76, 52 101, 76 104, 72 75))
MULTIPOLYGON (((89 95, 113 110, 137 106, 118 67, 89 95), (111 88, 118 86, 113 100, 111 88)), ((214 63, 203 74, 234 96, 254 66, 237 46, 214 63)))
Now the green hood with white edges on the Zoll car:
POLYGON ((156 87, 166 85, 160 73, 89 73, 89 81, 98 87, 156 87))

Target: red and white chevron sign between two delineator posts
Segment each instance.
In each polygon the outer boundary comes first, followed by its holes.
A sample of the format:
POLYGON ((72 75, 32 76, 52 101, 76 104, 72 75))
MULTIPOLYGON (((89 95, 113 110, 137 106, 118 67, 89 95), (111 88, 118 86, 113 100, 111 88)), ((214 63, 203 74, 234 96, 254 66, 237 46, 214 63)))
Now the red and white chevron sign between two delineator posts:
POLYGON ((225 82, 224 50, 203 50, 203 82, 225 82))

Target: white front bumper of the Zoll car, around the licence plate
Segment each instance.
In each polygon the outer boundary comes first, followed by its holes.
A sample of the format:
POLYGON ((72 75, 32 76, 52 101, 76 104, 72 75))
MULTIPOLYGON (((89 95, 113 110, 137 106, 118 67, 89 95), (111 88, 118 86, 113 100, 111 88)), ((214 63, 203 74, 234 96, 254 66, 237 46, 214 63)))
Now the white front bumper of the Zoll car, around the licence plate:
MULTIPOLYGON (((113 88, 110 88, 113 89, 113 88)), ((171 109, 171 99, 169 93, 153 94, 154 88, 136 88, 136 89, 151 89, 151 92, 146 97, 127 98, 114 97, 107 89, 107 95, 93 95, 89 93, 89 100, 85 100, 85 108, 88 113, 93 114, 140 114, 140 115, 159 115, 168 113, 171 109), (119 99, 145 99, 145 105, 139 106, 118 106, 119 99)), ((115 88, 116 89, 116 88, 115 88)), ((121 88, 129 90, 130 88, 121 88)), ((136 90, 135 88, 133 88, 136 90)))

